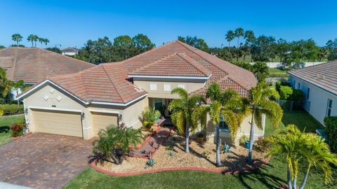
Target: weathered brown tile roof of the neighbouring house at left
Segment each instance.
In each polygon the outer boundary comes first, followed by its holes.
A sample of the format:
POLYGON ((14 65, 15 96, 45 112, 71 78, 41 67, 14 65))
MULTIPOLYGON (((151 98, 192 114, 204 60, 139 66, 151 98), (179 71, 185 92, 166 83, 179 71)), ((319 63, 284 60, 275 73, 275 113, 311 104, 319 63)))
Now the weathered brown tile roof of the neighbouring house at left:
POLYGON ((50 76, 76 73, 93 64, 41 48, 4 48, 0 50, 0 66, 7 68, 11 80, 38 83, 50 76))

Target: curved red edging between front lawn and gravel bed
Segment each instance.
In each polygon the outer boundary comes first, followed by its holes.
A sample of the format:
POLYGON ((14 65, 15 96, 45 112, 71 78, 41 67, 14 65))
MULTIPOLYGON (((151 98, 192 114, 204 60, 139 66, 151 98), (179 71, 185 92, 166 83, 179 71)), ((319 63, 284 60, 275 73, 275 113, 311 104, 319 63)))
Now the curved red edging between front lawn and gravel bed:
POLYGON ((93 169, 95 169, 98 172, 102 172, 104 174, 109 174, 112 176, 134 176, 134 175, 139 175, 139 174, 150 174, 150 173, 155 173, 155 172, 168 172, 168 171, 178 171, 178 170, 192 170, 192 171, 202 171, 202 172, 213 172, 213 173, 218 173, 218 174, 244 174, 244 173, 249 173, 252 172, 256 169, 259 169, 260 167, 263 167, 267 165, 267 163, 270 161, 270 158, 267 158, 263 163, 261 163, 258 167, 254 167, 252 169, 246 169, 242 171, 224 171, 222 169, 210 169, 210 168, 203 168, 203 167, 168 167, 168 168, 161 168, 161 169, 150 169, 146 171, 141 171, 141 172, 131 172, 131 173, 117 173, 117 172, 109 172, 105 169, 102 169, 100 167, 97 167, 96 160, 91 162, 89 165, 93 169))

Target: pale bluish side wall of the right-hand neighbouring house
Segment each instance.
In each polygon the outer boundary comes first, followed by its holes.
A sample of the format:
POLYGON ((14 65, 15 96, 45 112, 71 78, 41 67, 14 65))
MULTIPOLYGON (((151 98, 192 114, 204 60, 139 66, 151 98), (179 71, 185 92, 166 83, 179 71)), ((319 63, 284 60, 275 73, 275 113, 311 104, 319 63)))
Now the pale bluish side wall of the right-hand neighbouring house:
POLYGON ((313 116, 319 123, 324 124, 324 118, 326 117, 326 109, 328 105, 328 99, 332 99, 332 111, 331 116, 337 116, 337 95, 333 95, 330 92, 326 92, 321 88, 312 85, 299 78, 290 77, 291 85, 298 89, 298 83, 300 83, 300 90, 303 90, 307 94, 308 88, 310 88, 309 98, 305 95, 305 102, 310 104, 310 109, 306 109, 311 116, 313 116), (294 85, 294 81, 296 81, 294 85))

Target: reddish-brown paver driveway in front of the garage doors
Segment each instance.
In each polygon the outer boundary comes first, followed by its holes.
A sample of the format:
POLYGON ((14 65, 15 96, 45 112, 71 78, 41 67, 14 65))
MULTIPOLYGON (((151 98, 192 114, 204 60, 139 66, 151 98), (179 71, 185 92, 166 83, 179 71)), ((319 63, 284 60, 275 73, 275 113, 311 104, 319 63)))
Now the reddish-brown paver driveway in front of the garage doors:
POLYGON ((91 141, 35 133, 0 146, 0 181, 61 188, 88 165, 91 141))

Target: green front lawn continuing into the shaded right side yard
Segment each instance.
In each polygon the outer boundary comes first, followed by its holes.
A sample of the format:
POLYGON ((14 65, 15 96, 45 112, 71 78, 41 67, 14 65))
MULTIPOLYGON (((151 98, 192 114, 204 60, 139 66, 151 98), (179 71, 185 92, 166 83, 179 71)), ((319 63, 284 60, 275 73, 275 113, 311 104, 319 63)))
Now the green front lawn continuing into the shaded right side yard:
MULTIPOLYGON (((308 113, 284 113, 280 127, 294 123, 305 131, 313 131, 322 125, 317 123, 308 113)), ((275 133, 266 122, 265 134, 275 133)), ((300 181, 303 171, 300 169, 300 181)), ((324 185, 320 171, 312 169, 307 188, 337 188, 337 168, 333 169, 333 182, 324 185)), ((172 171, 138 176, 109 176, 94 169, 87 168, 64 188, 277 188, 286 183, 286 165, 282 157, 272 157, 269 164, 249 174, 221 175, 197 171, 172 171)))

